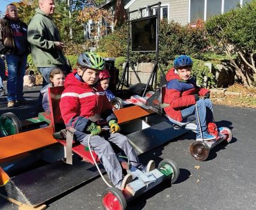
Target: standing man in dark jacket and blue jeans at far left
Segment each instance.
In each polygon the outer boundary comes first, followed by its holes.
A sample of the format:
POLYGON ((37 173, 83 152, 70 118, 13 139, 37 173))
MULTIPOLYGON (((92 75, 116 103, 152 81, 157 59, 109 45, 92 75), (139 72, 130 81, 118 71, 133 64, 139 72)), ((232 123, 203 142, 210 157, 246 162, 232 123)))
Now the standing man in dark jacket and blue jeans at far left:
POLYGON ((0 20, 0 54, 5 54, 8 67, 7 107, 28 103, 23 97, 23 77, 29 53, 27 29, 18 17, 17 7, 8 4, 6 15, 0 20))

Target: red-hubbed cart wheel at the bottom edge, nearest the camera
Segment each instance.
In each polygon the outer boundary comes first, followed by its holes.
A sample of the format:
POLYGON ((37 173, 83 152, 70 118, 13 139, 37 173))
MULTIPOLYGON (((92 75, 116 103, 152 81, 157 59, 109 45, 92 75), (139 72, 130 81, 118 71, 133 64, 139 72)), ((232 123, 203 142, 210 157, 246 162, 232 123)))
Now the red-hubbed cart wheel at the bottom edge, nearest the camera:
POLYGON ((122 192, 116 188, 107 188, 102 195, 102 204, 107 210, 125 210, 127 202, 122 192))

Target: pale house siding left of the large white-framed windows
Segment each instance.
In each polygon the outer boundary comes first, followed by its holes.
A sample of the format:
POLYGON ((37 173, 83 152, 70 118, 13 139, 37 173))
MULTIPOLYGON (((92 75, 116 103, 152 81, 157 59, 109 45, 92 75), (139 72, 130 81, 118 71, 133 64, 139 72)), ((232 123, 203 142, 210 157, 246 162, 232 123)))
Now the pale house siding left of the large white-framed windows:
MULTIPOLYGON (((129 11, 138 10, 147 5, 152 5, 158 3, 159 0, 136 0, 129 7, 129 11)), ((162 0, 162 5, 168 4, 169 6, 169 21, 174 20, 182 25, 188 24, 188 4, 189 0, 162 0)), ((145 11, 143 11, 143 16, 145 16, 145 11)), ((137 12, 131 14, 131 19, 140 18, 137 12)))

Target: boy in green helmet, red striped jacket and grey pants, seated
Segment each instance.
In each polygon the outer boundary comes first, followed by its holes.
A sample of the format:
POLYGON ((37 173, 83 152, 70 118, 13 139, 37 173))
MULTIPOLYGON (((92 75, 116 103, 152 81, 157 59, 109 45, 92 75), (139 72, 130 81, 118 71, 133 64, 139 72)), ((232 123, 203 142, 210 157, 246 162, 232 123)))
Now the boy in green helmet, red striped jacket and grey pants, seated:
POLYGON ((75 132, 75 140, 90 147, 99 156, 109 179, 119 190, 132 181, 132 175, 122 176, 122 167, 116 158, 115 151, 109 142, 116 144, 124 151, 132 166, 143 172, 154 169, 154 161, 149 161, 147 167, 142 165, 127 137, 117 133, 120 127, 104 90, 98 83, 99 73, 104 70, 105 62, 94 52, 84 52, 77 60, 79 68, 65 79, 65 90, 61 94, 60 110, 66 126, 71 126, 75 132), (111 128, 102 131, 106 124, 111 128))

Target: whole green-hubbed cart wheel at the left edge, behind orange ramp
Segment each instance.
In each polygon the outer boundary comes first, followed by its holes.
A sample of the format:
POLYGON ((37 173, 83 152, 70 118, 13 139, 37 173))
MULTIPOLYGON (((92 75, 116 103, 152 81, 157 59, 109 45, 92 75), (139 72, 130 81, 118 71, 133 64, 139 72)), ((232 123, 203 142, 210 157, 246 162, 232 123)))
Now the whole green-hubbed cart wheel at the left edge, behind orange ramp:
POLYGON ((6 112, 0 116, 0 132, 3 137, 20 133, 22 125, 20 119, 12 112, 6 112))

